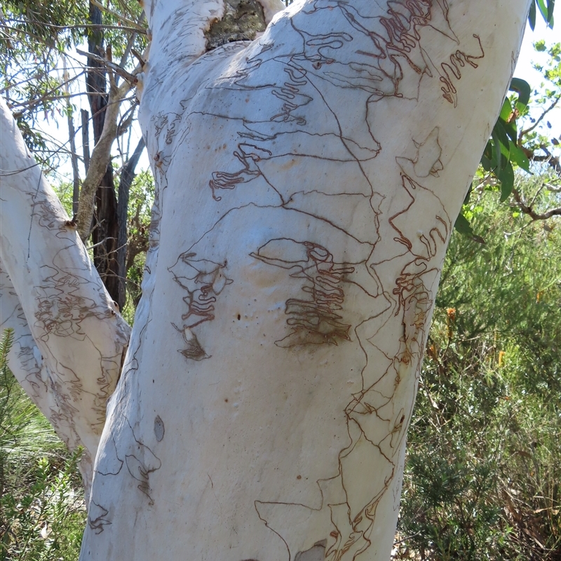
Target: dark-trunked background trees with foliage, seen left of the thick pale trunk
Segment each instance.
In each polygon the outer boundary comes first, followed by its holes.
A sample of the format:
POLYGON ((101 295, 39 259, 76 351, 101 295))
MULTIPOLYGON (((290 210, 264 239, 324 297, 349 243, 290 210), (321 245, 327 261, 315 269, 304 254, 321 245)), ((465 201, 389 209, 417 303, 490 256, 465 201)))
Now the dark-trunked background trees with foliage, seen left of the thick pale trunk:
MULTIPOLYGON (((121 3, 121 13, 116 13, 96 0, 8 1, 2 8, 1 92, 45 168, 56 169, 67 160, 72 163, 76 224, 84 241, 91 238, 97 271, 122 309, 127 194, 140 156, 127 144, 137 107, 132 90, 140 65, 135 70, 135 64, 142 62, 139 50, 146 45, 142 8, 121 3), (87 52, 81 50, 83 43, 87 52), (87 97, 89 113, 77 110, 80 97, 87 97), (58 114, 67 118, 67 142, 60 141, 63 133, 53 138, 37 127, 41 117, 57 121, 58 114), (76 114, 81 117, 79 126, 76 114), (114 170, 119 160, 121 165, 114 170), (119 193, 116 175, 123 179, 119 193)), ((137 152, 142 149, 143 140, 137 152)))

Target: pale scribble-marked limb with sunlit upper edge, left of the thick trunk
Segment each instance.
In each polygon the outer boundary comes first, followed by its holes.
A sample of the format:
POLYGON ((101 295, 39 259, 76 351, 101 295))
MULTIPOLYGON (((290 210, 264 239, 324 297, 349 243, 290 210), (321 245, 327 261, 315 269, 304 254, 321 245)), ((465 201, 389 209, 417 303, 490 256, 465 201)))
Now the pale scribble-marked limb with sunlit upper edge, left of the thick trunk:
POLYGON ((0 100, 0 328, 9 366, 70 449, 86 494, 129 327, 0 100))

